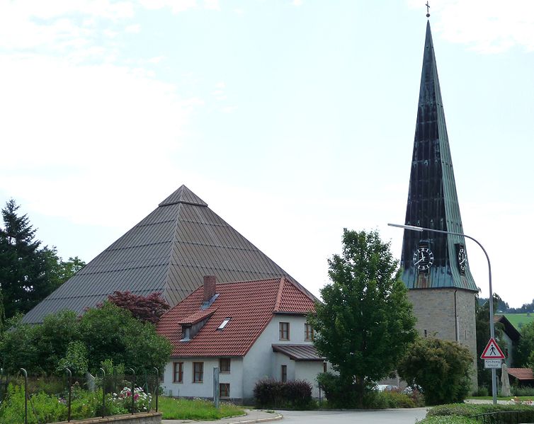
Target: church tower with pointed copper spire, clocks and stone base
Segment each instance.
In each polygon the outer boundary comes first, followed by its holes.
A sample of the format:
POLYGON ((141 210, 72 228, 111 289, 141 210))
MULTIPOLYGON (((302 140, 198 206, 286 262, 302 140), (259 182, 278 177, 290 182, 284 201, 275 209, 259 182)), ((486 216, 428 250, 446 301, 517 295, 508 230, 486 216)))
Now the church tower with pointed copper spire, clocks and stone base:
MULTIPOLYGON (((429 22, 405 223, 464 232, 429 22)), ((435 335, 466 345, 475 357, 476 369, 478 288, 470 272, 464 237, 405 229, 401 266, 421 336, 435 335)))

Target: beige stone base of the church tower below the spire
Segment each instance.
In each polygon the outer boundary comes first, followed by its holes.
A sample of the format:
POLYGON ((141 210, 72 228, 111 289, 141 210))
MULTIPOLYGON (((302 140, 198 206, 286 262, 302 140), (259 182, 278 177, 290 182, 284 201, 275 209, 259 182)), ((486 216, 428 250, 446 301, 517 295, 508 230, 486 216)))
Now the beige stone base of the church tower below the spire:
POLYGON ((477 329, 475 292, 455 288, 411 289, 408 297, 414 305, 416 328, 421 337, 458 341, 473 355, 472 389, 477 384, 477 329))

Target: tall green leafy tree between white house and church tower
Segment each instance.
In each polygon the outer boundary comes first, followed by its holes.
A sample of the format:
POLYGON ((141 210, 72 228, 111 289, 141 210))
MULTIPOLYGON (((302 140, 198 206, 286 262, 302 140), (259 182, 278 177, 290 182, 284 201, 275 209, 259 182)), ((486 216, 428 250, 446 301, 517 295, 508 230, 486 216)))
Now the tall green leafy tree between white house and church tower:
POLYGON ((390 243, 377 231, 343 230, 343 253, 329 259, 331 284, 309 316, 314 344, 363 406, 365 389, 387 377, 415 336, 415 317, 390 243))

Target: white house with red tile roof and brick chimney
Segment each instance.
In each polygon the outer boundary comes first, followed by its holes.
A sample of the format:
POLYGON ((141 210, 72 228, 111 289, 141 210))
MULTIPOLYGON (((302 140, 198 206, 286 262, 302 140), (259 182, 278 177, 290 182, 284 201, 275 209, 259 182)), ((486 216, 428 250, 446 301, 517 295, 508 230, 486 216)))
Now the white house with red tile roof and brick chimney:
POLYGON ((221 399, 254 397, 260 379, 305 379, 319 396, 315 378, 325 358, 312 343, 306 316, 314 298, 286 277, 217 283, 203 287, 161 317, 157 331, 171 341, 164 390, 171 396, 213 396, 219 367, 221 399))

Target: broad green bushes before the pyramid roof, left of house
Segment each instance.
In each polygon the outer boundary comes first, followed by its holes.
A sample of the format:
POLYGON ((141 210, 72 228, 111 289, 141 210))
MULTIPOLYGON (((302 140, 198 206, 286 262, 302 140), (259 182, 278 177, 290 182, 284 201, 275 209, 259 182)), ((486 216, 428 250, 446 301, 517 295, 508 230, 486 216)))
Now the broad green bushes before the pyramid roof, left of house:
POLYGON ((9 331, 0 334, 0 367, 8 372, 23 367, 31 374, 51 374, 67 363, 96 372, 105 360, 136 372, 152 371, 164 367, 171 353, 169 340, 159 336, 152 323, 109 302, 81 317, 61 311, 30 326, 17 316, 8 326, 9 331))

